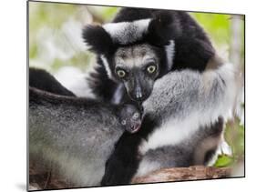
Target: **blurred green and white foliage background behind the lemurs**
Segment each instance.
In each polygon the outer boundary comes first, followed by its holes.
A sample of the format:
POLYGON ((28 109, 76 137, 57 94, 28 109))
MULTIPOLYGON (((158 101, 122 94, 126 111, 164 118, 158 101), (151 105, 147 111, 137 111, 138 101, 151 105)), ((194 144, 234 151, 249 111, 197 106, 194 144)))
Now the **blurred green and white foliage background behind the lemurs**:
MULTIPOLYGON (((45 68, 59 77, 63 68, 87 71, 95 57, 87 52, 81 29, 91 23, 107 23, 117 7, 29 2, 29 66, 45 68)), ((190 13, 210 36, 225 60, 244 66, 244 16, 190 13)), ((61 81, 61 77, 59 77, 61 81)), ((241 82, 243 87, 243 82, 241 82)), ((243 89, 243 88, 242 88, 243 89)), ((243 90, 236 118, 227 123, 225 137, 232 155, 221 155, 216 167, 240 165, 244 159, 243 90)), ((224 151, 225 152, 225 151, 224 151)))

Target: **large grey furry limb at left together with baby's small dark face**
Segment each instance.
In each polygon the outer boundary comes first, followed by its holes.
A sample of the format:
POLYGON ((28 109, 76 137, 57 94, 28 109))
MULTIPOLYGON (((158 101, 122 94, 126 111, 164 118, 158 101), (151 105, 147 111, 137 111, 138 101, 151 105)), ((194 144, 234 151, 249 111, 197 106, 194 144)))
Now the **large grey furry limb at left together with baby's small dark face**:
POLYGON ((29 165, 75 187, 97 186, 118 138, 125 129, 138 131, 138 113, 135 106, 57 96, 30 87, 29 165))

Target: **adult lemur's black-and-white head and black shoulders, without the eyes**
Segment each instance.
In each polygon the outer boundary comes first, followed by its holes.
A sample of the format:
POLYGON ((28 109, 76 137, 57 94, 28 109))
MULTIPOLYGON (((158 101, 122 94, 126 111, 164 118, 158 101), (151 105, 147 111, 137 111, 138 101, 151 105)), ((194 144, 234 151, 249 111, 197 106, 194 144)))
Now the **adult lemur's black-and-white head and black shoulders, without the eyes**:
POLYGON ((203 29, 183 11, 123 8, 112 23, 87 25, 83 37, 97 54, 90 87, 97 97, 114 103, 141 102, 170 70, 201 72, 215 55, 203 29), (155 76, 147 76, 143 68, 150 62, 158 67, 155 76), (117 76, 118 66, 128 70, 128 78, 117 76))

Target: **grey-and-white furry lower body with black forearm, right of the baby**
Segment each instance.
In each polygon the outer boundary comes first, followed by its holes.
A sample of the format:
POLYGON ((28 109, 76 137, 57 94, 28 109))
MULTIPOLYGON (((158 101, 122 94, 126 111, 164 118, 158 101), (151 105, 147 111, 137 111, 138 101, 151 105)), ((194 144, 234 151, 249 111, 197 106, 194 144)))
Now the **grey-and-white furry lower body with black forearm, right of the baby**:
POLYGON ((171 72, 158 79, 143 103, 145 117, 140 130, 135 135, 123 134, 118 140, 102 185, 128 184, 132 177, 162 167, 204 165, 209 160, 205 155, 220 144, 221 119, 231 116, 234 76, 232 66, 225 64, 203 73, 171 72), (212 132, 217 132, 214 139, 212 132), (203 139, 206 143, 198 142, 203 139))

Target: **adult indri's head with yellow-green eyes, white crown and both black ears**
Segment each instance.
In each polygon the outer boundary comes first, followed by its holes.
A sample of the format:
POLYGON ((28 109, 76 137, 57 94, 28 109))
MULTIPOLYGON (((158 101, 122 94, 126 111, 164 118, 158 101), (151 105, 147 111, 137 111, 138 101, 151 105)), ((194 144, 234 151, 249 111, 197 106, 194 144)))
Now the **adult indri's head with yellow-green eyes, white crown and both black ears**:
POLYGON ((130 99, 141 103, 154 82, 172 67, 175 36, 180 30, 169 12, 147 12, 142 19, 118 19, 105 25, 87 25, 83 38, 97 54, 108 78, 122 84, 130 99))

